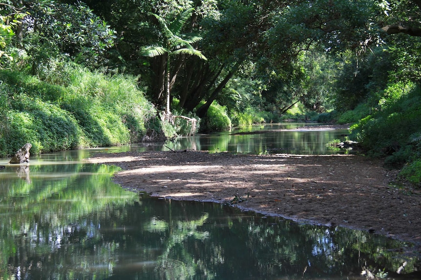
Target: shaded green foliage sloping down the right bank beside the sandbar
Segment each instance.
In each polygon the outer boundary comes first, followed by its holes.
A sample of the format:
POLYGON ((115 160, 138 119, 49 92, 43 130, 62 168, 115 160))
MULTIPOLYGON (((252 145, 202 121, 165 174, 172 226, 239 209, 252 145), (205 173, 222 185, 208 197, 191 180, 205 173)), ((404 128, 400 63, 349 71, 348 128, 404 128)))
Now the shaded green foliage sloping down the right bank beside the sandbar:
POLYGON ((379 110, 352 127, 353 134, 372 155, 388 155, 390 167, 405 167, 402 175, 414 184, 421 180, 421 89, 414 84, 386 90, 379 110), (415 132, 414 132, 415 131, 415 132))

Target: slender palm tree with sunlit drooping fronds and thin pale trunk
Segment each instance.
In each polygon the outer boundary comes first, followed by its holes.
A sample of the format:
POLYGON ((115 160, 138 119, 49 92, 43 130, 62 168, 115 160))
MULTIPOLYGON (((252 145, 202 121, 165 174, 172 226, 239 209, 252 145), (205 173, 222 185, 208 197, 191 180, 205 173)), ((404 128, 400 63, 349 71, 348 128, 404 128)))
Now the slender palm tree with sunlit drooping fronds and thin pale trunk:
POLYGON ((165 90, 167 93, 167 108, 165 112, 165 119, 171 120, 171 112, 169 110, 170 94, 169 94, 169 61, 171 56, 175 55, 189 55, 198 56, 201 59, 207 60, 207 58, 198 50, 196 50, 192 44, 201 40, 201 37, 195 35, 180 34, 183 26, 187 23, 194 12, 193 8, 187 9, 182 12, 174 21, 167 24, 166 20, 156 14, 150 14, 158 19, 161 32, 164 35, 162 43, 145 46, 141 52, 144 56, 155 57, 155 56, 167 56, 166 63, 166 80, 165 90))

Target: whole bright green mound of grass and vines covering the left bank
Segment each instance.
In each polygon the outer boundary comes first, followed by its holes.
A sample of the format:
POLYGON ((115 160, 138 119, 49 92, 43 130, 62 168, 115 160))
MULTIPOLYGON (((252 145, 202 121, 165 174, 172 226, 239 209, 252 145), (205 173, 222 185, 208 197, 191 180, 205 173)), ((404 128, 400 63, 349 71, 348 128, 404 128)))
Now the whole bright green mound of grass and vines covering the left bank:
POLYGON ((71 64, 51 75, 0 72, 0 156, 26 142, 35 153, 137 142, 156 117, 136 77, 71 64))

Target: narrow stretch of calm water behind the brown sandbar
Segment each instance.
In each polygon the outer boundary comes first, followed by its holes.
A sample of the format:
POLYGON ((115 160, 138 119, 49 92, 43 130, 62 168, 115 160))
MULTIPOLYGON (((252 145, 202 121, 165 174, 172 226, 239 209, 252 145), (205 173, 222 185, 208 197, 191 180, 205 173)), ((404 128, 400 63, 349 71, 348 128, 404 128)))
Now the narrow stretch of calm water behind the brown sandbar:
MULTIPOLYGON (((348 153, 350 150, 334 150, 326 143, 343 139, 348 130, 320 129, 319 124, 282 123, 254 125, 233 131, 180 137, 166 143, 173 150, 229 151, 233 153, 290 153, 290 154, 332 154, 348 153), (315 128, 319 129, 315 129, 315 128)), ((163 144, 141 144, 124 147, 97 149, 100 151, 147 151, 168 150, 163 144)))

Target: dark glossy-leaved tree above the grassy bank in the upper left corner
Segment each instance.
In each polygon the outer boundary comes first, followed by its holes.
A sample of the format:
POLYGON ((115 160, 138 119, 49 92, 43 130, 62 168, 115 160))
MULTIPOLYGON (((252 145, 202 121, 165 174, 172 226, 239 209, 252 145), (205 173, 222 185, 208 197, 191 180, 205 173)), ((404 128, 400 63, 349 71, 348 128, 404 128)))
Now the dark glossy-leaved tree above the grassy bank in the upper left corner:
POLYGON ((59 57, 98 67, 114 45, 114 30, 83 2, 14 0, 1 5, 1 19, 12 26, 14 46, 26 54, 33 74, 59 57), (3 13, 12 10, 9 16, 3 13), (20 16, 22 15, 22 16, 20 16), (20 19, 21 18, 21 19, 20 19))

